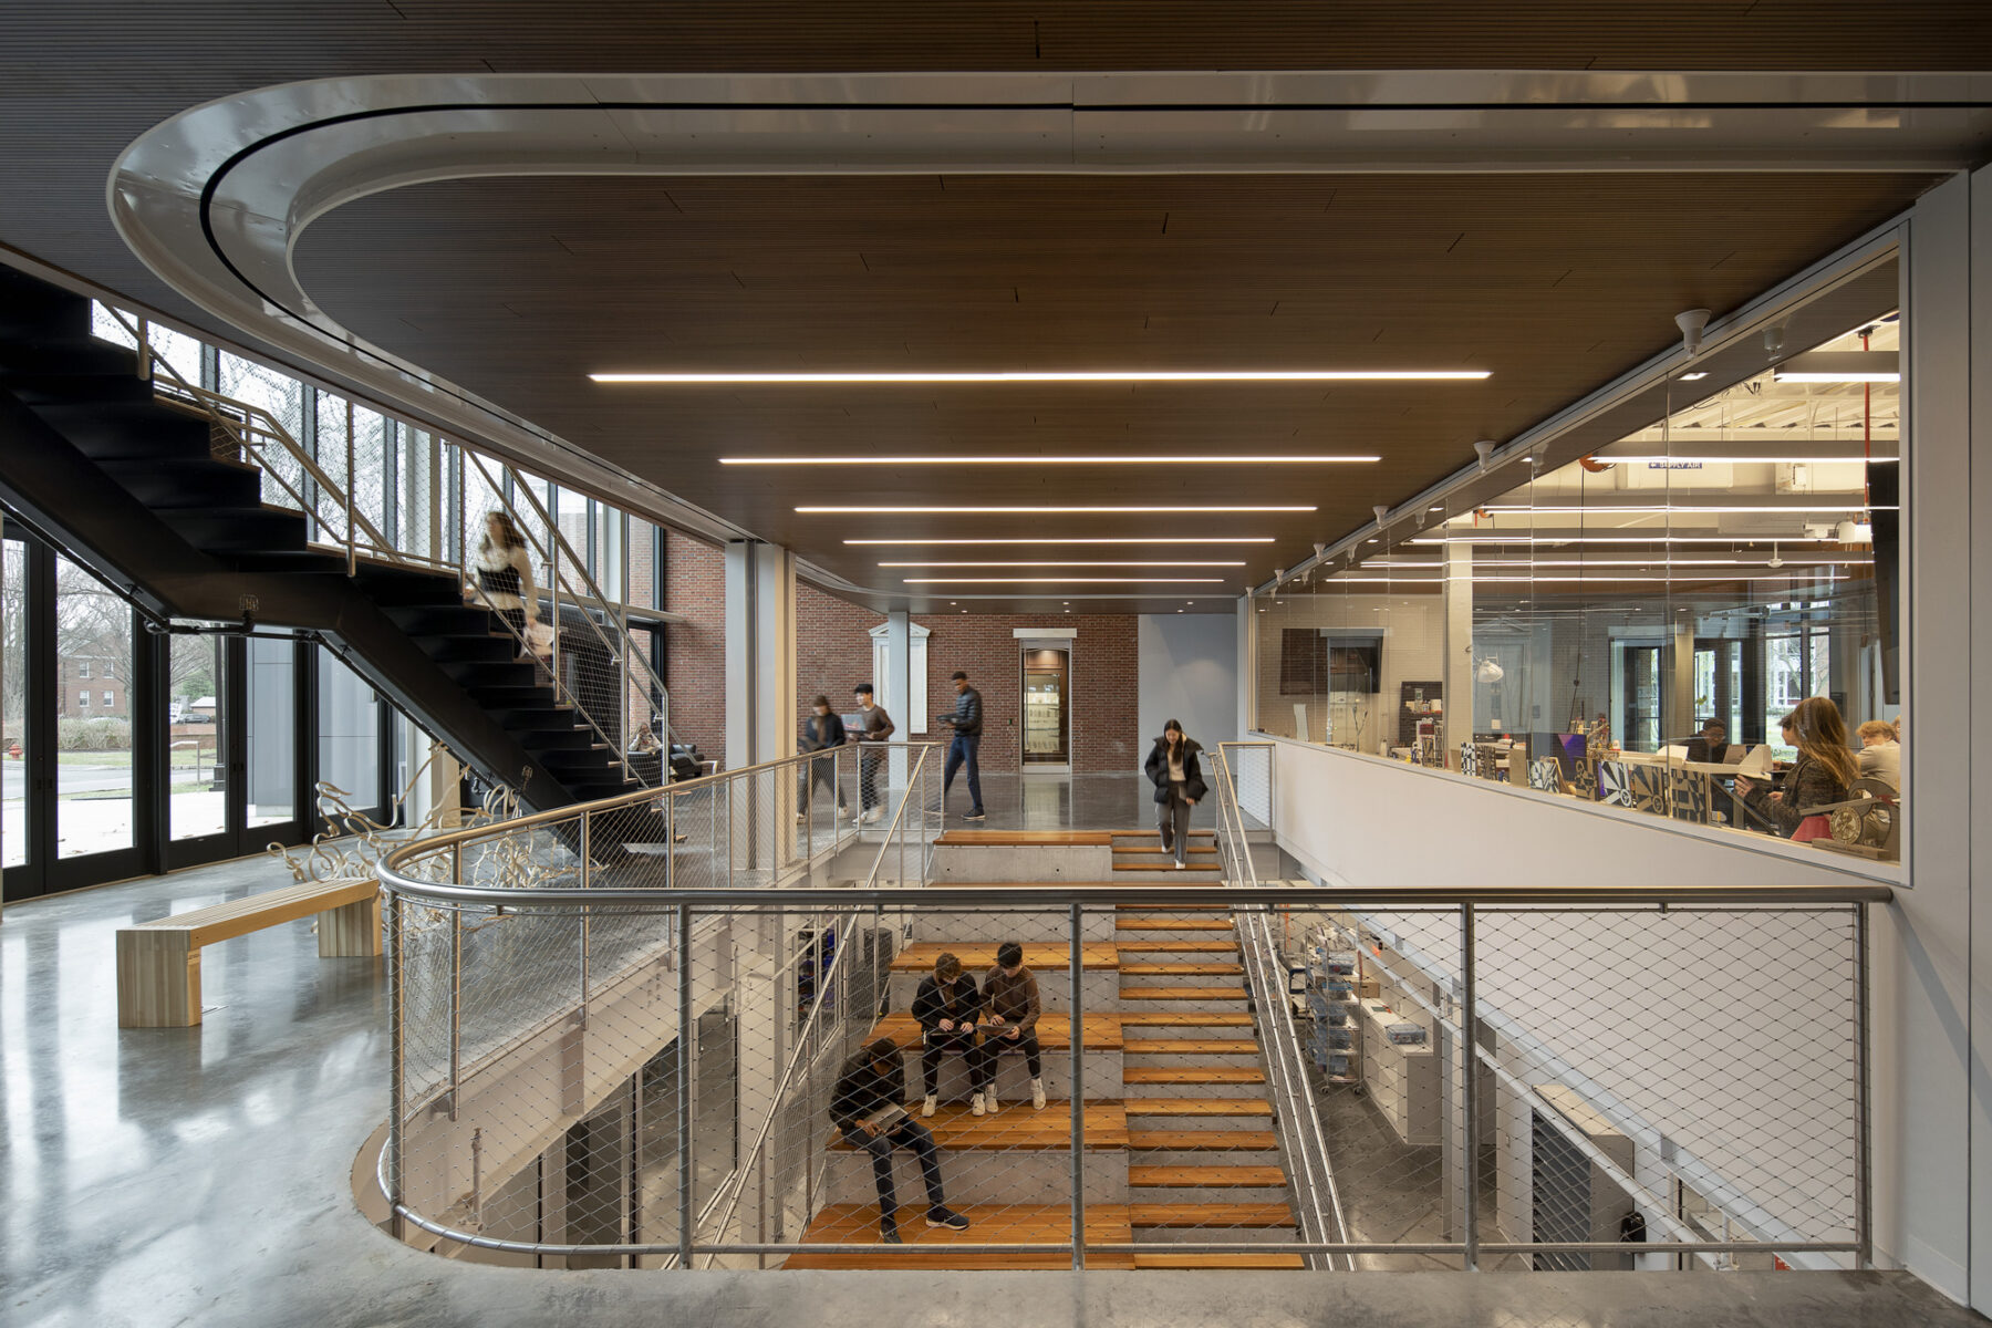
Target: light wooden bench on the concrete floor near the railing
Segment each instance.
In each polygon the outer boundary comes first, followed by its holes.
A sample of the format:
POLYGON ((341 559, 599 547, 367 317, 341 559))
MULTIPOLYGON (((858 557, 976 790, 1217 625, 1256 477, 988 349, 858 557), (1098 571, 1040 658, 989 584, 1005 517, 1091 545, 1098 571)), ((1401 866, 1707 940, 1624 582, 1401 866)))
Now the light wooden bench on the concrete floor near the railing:
POLYGON ((118 928, 118 1027, 201 1021, 201 946, 319 916, 319 958, 380 954, 380 882, 307 880, 118 928))

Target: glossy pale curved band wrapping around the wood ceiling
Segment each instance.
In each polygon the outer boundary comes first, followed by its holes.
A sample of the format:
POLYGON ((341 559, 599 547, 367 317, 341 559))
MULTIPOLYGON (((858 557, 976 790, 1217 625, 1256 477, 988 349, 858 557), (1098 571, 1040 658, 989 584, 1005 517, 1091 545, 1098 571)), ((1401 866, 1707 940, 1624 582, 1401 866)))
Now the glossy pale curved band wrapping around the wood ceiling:
POLYGON ((502 175, 1962 169, 1992 137, 1988 104, 1980 76, 339 78, 167 119, 122 153, 108 203, 153 273, 247 334, 610 502, 729 540, 753 534, 339 325, 293 269, 303 231, 371 193, 502 175))

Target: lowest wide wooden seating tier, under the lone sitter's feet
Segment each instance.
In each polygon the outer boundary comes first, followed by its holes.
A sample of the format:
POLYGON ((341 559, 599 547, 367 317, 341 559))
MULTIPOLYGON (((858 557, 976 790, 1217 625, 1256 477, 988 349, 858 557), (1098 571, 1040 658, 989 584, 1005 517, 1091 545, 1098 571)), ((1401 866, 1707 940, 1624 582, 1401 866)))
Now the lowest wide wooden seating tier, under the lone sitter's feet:
MULTIPOLYGON (((950 1246, 960 1244, 1070 1244, 1072 1209, 1066 1205, 956 1205, 968 1218, 968 1230, 948 1230, 928 1226, 926 1209, 918 1203, 900 1205, 898 1234, 904 1244, 878 1242, 878 1205, 839 1203, 817 1213, 803 1244, 839 1244, 849 1248, 811 1250, 791 1254, 787 1268, 1018 1268, 1056 1270, 1072 1268, 1072 1254, 1060 1250, 1044 1252, 986 1252, 958 1254, 950 1246)), ((1086 1238, 1098 1244, 1131 1244, 1133 1224, 1127 1220, 1125 1205, 1086 1205, 1086 1238)), ((1131 1254, 1088 1254, 1088 1268, 1131 1268, 1131 1254)))

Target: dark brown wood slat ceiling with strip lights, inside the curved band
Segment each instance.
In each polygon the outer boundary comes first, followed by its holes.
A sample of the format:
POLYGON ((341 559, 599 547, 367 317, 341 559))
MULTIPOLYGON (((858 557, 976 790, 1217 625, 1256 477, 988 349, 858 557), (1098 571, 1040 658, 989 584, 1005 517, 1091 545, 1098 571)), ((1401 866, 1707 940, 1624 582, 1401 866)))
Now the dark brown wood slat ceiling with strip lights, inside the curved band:
MULTIPOLYGON (((1900 211, 1870 175, 498 179, 315 223, 329 315, 572 442, 896 589, 847 538, 1269 534, 1235 593, 1900 211), (1486 382, 604 386, 594 370, 1486 368, 1486 382), (737 468, 769 454, 1363 452, 1378 466, 737 468), (809 504, 1315 504, 1311 516, 799 516, 809 504)), ((1074 575, 1139 575, 1076 571, 1074 575)), ((1169 573, 1173 575, 1173 573, 1169 573)), ((998 593, 992 587, 962 591, 998 593)), ((1080 593, 1088 587, 1072 587, 1080 593)), ((1090 587, 1125 591, 1127 587, 1090 587)), ((1004 591, 1006 593, 1006 591, 1004 591)), ((1002 607, 1020 607, 1012 601, 1002 607)), ((1058 603, 1036 597, 1030 603, 1058 603)), ((1171 599, 1171 603, 1181 603, 1171 599)), ((996 607, 996 605, 988 605, 996 607)))

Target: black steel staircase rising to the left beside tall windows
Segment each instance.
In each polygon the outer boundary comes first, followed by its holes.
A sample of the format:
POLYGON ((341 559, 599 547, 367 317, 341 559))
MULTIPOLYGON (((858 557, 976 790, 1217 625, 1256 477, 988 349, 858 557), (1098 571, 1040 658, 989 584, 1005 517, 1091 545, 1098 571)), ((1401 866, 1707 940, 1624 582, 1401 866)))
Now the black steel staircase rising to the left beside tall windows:
MULTIPOLYGON (((532 810, 655 782, 620 757, 622 707, 572 703, 452 571, 359 557, 349 575, 345 553, 307 542, 311 518, 265 504, 263 472, 213 440, 205 406, 92 336, 86 297, 0 269, 0 498, 38 534, 159 619, 317 631, 532 810)), ((580 613, 564 607, 558 629, 590 627, 580 613)), ((586 667, 602 635, 572 637, 568 663, 586 667)))

